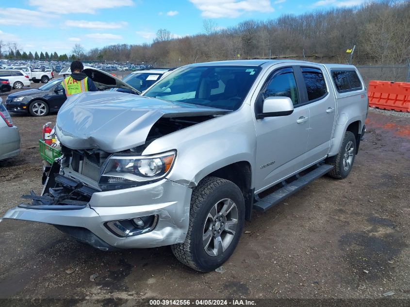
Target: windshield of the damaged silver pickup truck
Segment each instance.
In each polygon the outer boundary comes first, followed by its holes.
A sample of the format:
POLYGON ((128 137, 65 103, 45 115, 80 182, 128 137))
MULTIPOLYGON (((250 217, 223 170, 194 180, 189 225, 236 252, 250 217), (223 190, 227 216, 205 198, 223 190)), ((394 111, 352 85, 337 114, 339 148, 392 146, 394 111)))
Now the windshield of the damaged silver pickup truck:
POLYGON ((165 76, 143 96, 237 110, 260 70, 258 66, 186 67, 165 76))

